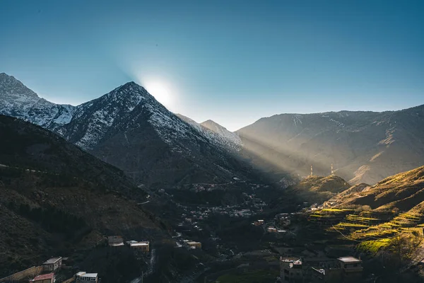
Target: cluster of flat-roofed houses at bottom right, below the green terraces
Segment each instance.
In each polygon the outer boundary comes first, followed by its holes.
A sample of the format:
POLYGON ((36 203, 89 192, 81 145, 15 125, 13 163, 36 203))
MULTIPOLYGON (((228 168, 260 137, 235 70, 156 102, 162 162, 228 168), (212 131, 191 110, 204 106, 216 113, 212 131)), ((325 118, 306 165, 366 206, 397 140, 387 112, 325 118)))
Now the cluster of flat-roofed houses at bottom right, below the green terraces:
POLYGON ((354 283, 363 276, 362 261, 352 256, 306 263, 302 258, 281 257, 280 270, 282 283, 354 283))

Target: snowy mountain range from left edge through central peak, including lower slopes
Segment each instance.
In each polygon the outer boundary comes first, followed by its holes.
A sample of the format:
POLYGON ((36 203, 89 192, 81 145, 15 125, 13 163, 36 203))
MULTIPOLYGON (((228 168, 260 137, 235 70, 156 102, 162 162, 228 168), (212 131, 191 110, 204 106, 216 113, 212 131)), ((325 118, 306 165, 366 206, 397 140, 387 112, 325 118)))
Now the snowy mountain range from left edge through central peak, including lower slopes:
POLYGON ((0 85, 0 113, 56 132, 139 184, 228 183, 252 175, 232 141, 184 122, 134 82, 76 107, 38 98, 6 74, 0 85))

